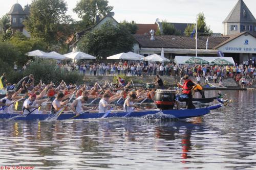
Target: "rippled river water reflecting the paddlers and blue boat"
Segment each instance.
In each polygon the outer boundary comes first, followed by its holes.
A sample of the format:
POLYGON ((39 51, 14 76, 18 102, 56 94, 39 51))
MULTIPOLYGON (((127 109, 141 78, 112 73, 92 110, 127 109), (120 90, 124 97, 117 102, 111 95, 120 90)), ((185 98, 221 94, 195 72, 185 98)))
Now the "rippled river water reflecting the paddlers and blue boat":
POLYGON ((177 122, 0 120, 0 168, 256 169, 256 90, 222 93, 232 107, 177 122))

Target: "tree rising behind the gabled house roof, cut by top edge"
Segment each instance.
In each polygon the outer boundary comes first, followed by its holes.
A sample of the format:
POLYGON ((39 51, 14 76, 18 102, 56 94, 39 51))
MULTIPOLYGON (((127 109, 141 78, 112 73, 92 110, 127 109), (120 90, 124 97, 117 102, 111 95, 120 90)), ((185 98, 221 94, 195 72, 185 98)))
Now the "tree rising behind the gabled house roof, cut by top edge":
POLYGON ((96 15, 103 18, 112 11, 113 7, 108 3, 106 0, 80 0, 73 11, 82 19, 79 24, 87 28, 96 24, 96 15))

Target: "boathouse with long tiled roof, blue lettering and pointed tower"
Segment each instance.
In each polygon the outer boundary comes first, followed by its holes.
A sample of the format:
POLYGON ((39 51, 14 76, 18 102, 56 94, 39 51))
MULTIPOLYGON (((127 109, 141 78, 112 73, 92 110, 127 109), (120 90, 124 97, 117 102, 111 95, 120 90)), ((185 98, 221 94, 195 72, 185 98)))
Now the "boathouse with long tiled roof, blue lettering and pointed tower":
MULTIPOLYGON (((165 57, 195 56, 196 40, 190 36, 134 35, 135 53, 148 56, 161 54, 165 57), (153 38, 152 38, 153 36, 153 38)), ((198 37, 198 56, 232 57, 236 63, 256 64, 256 20, 243 0, 239 0, 223 21, 223 36, 198 37), (208 41, 207 41, 208 38, 208 41)))

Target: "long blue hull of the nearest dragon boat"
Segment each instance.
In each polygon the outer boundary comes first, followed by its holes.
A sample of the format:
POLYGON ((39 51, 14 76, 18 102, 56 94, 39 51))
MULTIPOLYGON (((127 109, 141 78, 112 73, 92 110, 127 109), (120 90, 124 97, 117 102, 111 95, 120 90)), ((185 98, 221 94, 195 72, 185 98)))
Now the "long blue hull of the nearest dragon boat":
POLYGON ((89 118, 109 118, 109 117, 142 117, 146 115, 154 115, 159 112, 164 115, 169 116, 170 118, 184 119, 190 117, 203 116, 210 113, 210 110, 218 109, 222 107, 222 104, 217 104, 204 108, 196 109, 179 109, 179 110, 160 110, 160 109, 150 109, 150 110, 135 110, 131 113, 125 113, 123 111, 111 111, 106 116, 105 113, 95 113, 96 111, 89 111, 76 116, 72 112, 62 113, 56 117, 56 114, 44 113, 44 114, 29 114, 24 115, 18 112, 16 113, 2 113, 0 114, 0 119, 13 119, 13 120, 66 120, 66 119, 89 119, 89 118), (55 119, 54 119, 55 118, 55 119))

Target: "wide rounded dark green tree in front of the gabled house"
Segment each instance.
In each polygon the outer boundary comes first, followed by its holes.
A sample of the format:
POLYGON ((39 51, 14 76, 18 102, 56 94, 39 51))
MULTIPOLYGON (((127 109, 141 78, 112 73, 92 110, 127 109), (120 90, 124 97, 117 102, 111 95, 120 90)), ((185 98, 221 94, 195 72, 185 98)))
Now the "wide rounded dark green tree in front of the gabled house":
POLYGON ((122 26, 106 22, 100 29, 84 35, 78 42, 78 49, 95 57, 108 57, 133 50, 135 38, 122 26))

